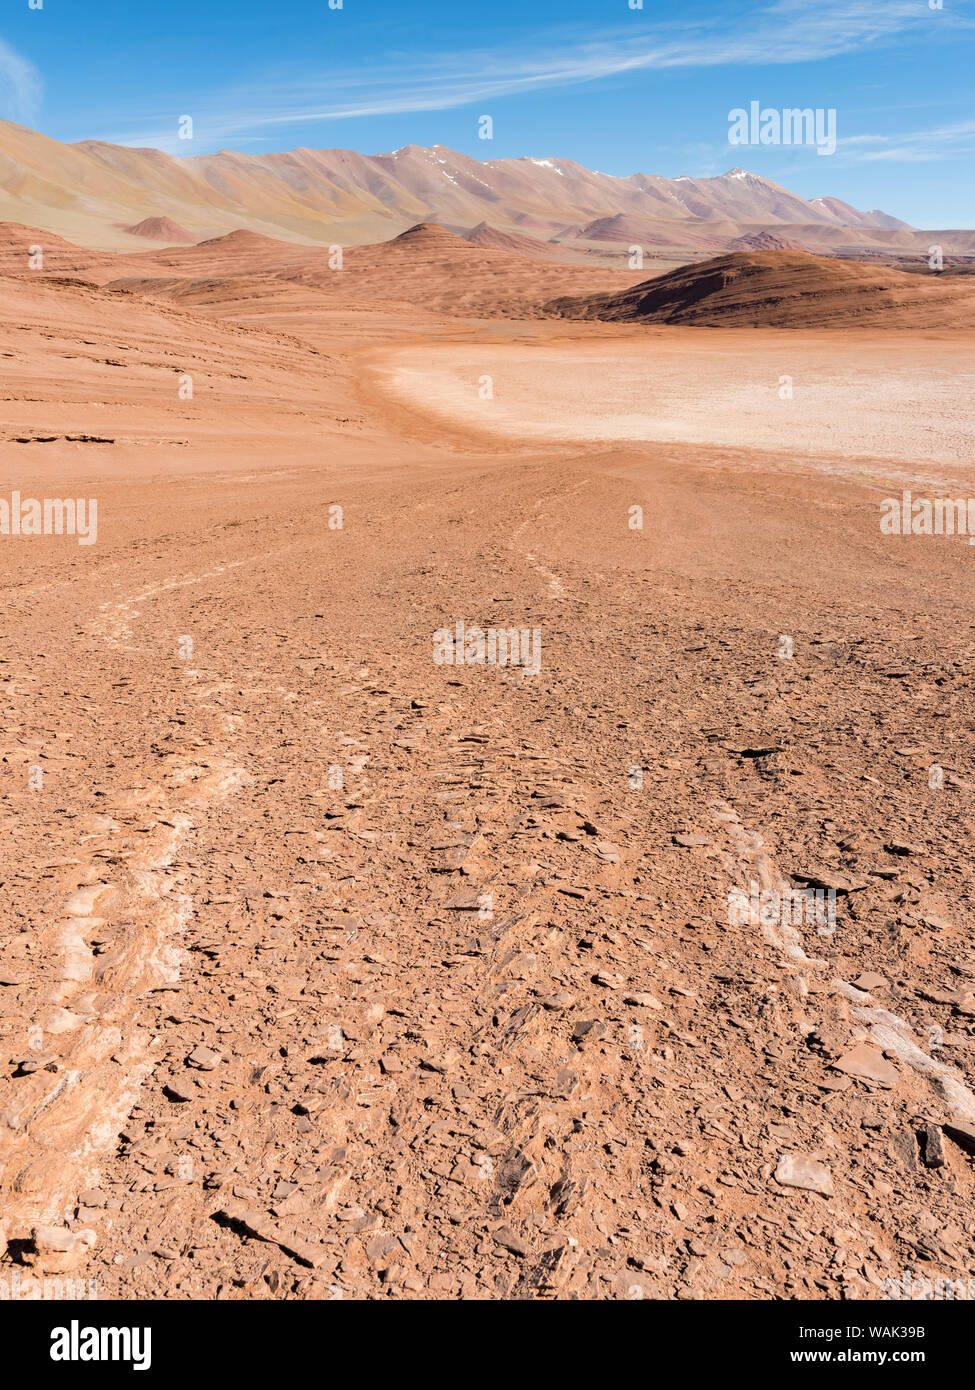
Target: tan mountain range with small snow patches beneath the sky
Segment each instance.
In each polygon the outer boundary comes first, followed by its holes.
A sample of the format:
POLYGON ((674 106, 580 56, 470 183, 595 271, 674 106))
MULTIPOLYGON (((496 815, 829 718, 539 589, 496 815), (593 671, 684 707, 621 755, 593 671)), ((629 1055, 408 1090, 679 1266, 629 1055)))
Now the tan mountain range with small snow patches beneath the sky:
POLYGON ((918 231, 835 197, 803 199, 741 168, 716 178, 619 178, 565 158, 474 160, 442 145, 389 154, 298 149, 171 156, 103 140, 64 145, 0 121, 0 221, 76 245, 135 250, 239 228, 345 246, 437 222, 523 254, 701 257, 751 249, 975 250, 975 232, 918 231), (472 231, 473 229, 473 231, 472 231), (506 245, 512 246, 509 240, 506 245))

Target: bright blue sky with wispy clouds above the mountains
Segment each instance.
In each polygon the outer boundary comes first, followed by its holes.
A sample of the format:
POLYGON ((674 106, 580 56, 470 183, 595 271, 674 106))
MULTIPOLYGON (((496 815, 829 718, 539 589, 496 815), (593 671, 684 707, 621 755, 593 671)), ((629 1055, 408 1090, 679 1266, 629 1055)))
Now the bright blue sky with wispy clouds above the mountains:
POLYGON ((975 227, 975 0, 629 3, 6 0, 0 117, 172 154, 440 143, 608 174, 743 165, 975 227), (729 111, 752 100, 836 108, 836 153, 730 146, 729 111))

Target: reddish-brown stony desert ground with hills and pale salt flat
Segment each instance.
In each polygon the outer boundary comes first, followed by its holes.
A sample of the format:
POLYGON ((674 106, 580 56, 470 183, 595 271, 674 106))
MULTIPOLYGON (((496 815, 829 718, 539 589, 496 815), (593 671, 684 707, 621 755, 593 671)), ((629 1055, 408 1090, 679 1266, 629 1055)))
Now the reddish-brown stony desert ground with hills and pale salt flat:
POLYGON ((97 502, 0 537, 6 1273, 969 1277, 975 553, 879 517, 971 489, 971 291, 0 232, 0 496, 97 502))

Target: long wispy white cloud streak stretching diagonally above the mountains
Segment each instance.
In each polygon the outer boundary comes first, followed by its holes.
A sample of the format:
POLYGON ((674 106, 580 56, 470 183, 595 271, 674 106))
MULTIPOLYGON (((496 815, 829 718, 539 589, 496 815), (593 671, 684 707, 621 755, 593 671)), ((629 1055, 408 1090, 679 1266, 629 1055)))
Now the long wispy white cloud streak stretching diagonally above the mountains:
MULTIPOLYGON (((943 21, 944 15, 939 14, 943 21)), ((442 111, 495 97, 574 86, 637 71, 815 63, 929 31, 919 0, 773 0, 718 18, 648 26, 641 11, 606 36, 580 31, 540 33, 529 51, 481 49, 430 56, 396 53, 355 71, 324 71, 299 81, 253 83, 200 103, 198 135, 209 145, 288 126, 371 115, 442 111), (323 96, 327 93, 327 99, 323 96)), ((953 24, 965 24, 953 18, 953 24)), ((174 121, 175 125, 175 121, 174 121)), ((113 135, 122 143, 161 143, 163 135, 113 135)))

